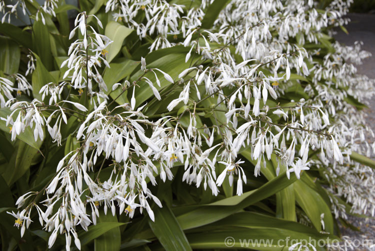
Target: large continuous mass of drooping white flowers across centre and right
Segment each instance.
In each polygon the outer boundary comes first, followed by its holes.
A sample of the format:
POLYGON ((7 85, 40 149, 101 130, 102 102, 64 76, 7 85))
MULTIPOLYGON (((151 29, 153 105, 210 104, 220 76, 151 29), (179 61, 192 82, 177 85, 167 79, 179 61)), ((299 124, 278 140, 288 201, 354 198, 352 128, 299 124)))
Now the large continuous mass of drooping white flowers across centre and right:
MULTIPOLYGON (((54 16, 56 3, 47 2, 43 13, 54 16)), ((69 136, 76 144, 65 147, 56 174, 44 188, 46 198, 23 207, 40 193, 33 191, 17 200, 23 209, 11 214, 21 235, 36 209, 40 224, 52 232, 49 247, 58 233, 64 233, 66 249, 71 235, 80 248, 76 226, 87 230, 95 224, 100 206, 104 213, 110 208, 114 215, 118 209, 129 217, 145 209, 154 220, 150 204, 162 205, 151 187, 157 184, 157 175, 160 181, 172 180, 176 166, 183 168, 182 182, 204 189, 208 185, 217 195, 227 178, 241 195, 246 175, 261 175, 272 158, 277 160, 276 175, 282 172, 280 166, 288 178, 299 179, 310 168, 321 171, 329 181, 326 190, 337 216, 344 215, 337 200, 342 195, 354 212, 373 214, 375 197, 368 194, 375 184, 372 169, 349 158, 352 151, 369 155, 375 148, 364 143, 369 129, 363 126, 363 113, 348 101, 365 102, 374 94, 374 81, 357 75, 352 64, 369 55, 358 44, 324 48, 329 37, 321 32, 346 22, 341 17, 347 3, 335 0, 317 12, 311 0, 232 0, 206 29, 202 20, 212 2, 194 7, 163 0, 106 3, 105 11, 117 22, 134 29, 140 39, 152 37, 150 52, 183 49, 189 66, 175 79, 140 58, 137 78, 113 84, 116 95, 108 95, 102 75, 103 68, 110 68, 105 49, 112 41, 87 23, 91 18, 102 28, 95 16, 85 12, 77 15, 69 35, 78 39, 60 66, 67 70, 61 81, 38 90, 41 100, 14 99, 14 90, 30 95, 31 87, 21 75, 9 76, 17 82, 16 89, 12 81, 0 78, 1 107, 11 111, 4 119, 12 128, 12 140, 26 128, 33 131, 35 141, 43 140, 47 128, 59 146, 67 140, 61 136, 64 124, 70 118, 80 121, 69 136), (140 15, 144 15, 141 22, 140 15), (323 50, 324 56, 319 56, 323 50), (153 96, 139 103, 137 94, 144 90, 153 96), (119 103, 119 97, 129 101, 119 103), (46 99, 48 105, 43 103, 46 99), (288 100, 286 105, 279 105, 281 99, 288 100), (159 101, 166 112, 148 115, 159 101), (245 151, 253 168, 244 165, 245 151), (110 173, 101 178, 104 165, 110 173), (219 165, 221 172, 216 169, 219 165)), ((33 62, 30 56, 26 75, 34 70, 33 62)))

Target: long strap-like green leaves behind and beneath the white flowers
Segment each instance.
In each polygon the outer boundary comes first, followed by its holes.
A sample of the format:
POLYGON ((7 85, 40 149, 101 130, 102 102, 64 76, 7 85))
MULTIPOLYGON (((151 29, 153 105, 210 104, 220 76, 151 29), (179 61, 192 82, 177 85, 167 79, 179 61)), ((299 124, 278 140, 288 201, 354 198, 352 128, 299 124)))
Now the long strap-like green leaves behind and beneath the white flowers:
MULTIPOLYGON (((35 2, 35 1, 34 1, 35 2)), ((33 2, 33 5, 36 4, 33 2)), ((176 1, 183 2, 183 1, 176 1)), ((218 13, 225 7, 228 1, 215 0, 208 7, 207 14, 202 20, 202 28, 209 29, 218 13)), ((103 5, 105 1, 79 1, 80 9, 89 14, 97 14, 98 17, 105 17, 103 5)), ((0 24, 0 75, 14 74, 26 68, 26 50, 32 50, 36 59, 36 68, 28 80, 32 83, 33 98, 41 100, 40 88, 50 82, 57 83, 62 81, 65 69, 60 69, 61 62, 67 56, 67 38, 68 26, 66 23, 66 11, 76 9, 73 6, 63 5, 56 10, 56 20, 46 18, 46 25, 41 21, 34 22, 30 27, 31 33, 26 30, 14 27, 9 24, 0 24)), ((160 49, 148 53, 147 41, 139 42, 133 31, 112 20, 104 20, 106 23, 103 33, 113 40, 108 47, 106 57, 110 68, 103 72, 103 80, 107 86, 107 94, 119 105, 129 103, 131 94, 120 88, 112 91, 115 83, 128 80, 130 83, 136 81, 144 73, 140 70, 140 56, 145 57, 147 67, 158 68, 168 73, 173 80, 177 79, 178 74, 201 61, 201 56, 194 55, 191 60, 185 62, 185 55, 189 48, 176 46, 168 49, 160 49), (134 38, 135 37, 135 38, 134 38)), ((91 22, 95 23, 94 20, 91 22)), ((320 47, 327 52, 332 51, 330 38, 321 37, 320 47)), ((314 45, 312 45, 314 46, 314 45)), ((207 63, 207 62, 205 62, 207 63)), ((208 62, 207 64, 209 64, 208 62)), ((155 116, 157 114, 167 114, 167 104, 179 94, 175 85, 162 78, 160 87, 156 87, 160 95, 164 98, 165 94, 170 94, 166 99, 155 104, 152 99, 152 92, 145 82, 139 83, 139 91, 135 93, 136 107, 144 102, 150 102, 145 110, 146 116, 155 116)), ((193 77, 193 74, 191 74, 193 77)), ((152 74, 147 75, 151 82, 156 79, 152 74)), ((310 82, 309 78, 292 74, 291 85, 286 90, 289 99, 282 97, 277 101, 280 107, 291 105, 290 99, 305 98, 300 82, 310 82)), ((224 90, 225 93, 228 90, 224 90)), ((72 96, 64 90, 63 96, 72 96)), ((191 94, 196 95, 196 94, 191 94)), ((75 102, 84 104, 83 97, 73 97, 75 102)), ((25 96, 17 99, 27 99, 25 96)), ((351 96, 346 97, 346 102, 364 108, 365 106, 351 96)), ((253 100, 252 100, 253 102, 253 100)), ((112 104, 111 108, 117 104, 112 104)), ((216 104, 216 100, 208 98, 196 106, 196 109, 204 109, 216 104)), ((253 104, 253 103, 252 103, 253 104)), ((251 105, 252 105, 251 104, 251 105)), ((274 101, 268 101, 275 107, 274 101)), ((295 102, 293 103, 295 105, 295 102)), ((71 108, 73 108, 71 106, 71 108)), ((92 109, 92 107, 90 107, 92 109)), ((180 117, 181 124, 187 124, 187 116, 184 112, 188 109, 195 109, 180 105, 175 113, 180 117), (178 111, 178 112, 177 112, 178 111)), ((217 107, 220 109, 220 106, 217 107)), ((136 110, 136 109, 135 109, 136 110)), ((197 117, 197 124, 210 124, 212 121, 224 121, 225 111, 212 113, 203 113, 197 117)), ((10 111, 6 108, 0 109, 0 117, 6 117, 10 111)), ((17 136, 15 141, 10 140, 10 128, 5 125, 5 121, 0 120, 0 233, 2 250, 20 249, 20 250, 42 250, 45 249, 48 242, 49 233, 38 230, 37 224, 26 230, 21 238, 19 231, 12 226, 13 218, 5 211, 15 210, 13 198, 17 198, 28 190, 42 190, 50 182, 55 174, 58 161, 67 153, 77 149, 79 142, 72 136, 79 125, 83 122, 83 117, 79 112, 72 110, 72 115, 68 120, 67 126, 61 131, 63 147, 59 148, 56 143, 51 142, 48 134, 44 134, 44 140, 34 141, 33 131, 26 128, 25 131, 17 136)), ((15 116, 15 115, 14 115, 15 116)), ((275 116, 276 118, 276 116, 275 116)), ((281 120, 281 118, 279 118, 281 120)), ((277 122, 277 121, 276 121, 277 122)), ((216 139, 220 140, 220 138, 216 139)), ((253 169, 256 161, 252 159, 249 149, 243 149, 241 156, 246 160, 248 167, 246 172, 247 182, 244 186, 244 193, 241 196, 233 196, 233 186, 228 182, 223 186, 217 197, 212 196, 210 191, 204 191, 202 187, 196 188, 181 183, 183 175, 183 166, 175 165, 175 179, 167 181, 168 183, 159 185, 158 196, 162 200, 163 207, 153 206, 155 221, 152 222, 147 216, 136 213, 130 222, 127 217, 112 216, 110 212, 106 215, 100 213, 96 225, 88 227, 88 231, 79 229, 78 235, 82 250, 191 250, 191 249, 218 249, 227 248, 225 238, 233 237, 236 242, 234 248, 241 248, 239 239, 272 239, 274 243, 278 240, 284 240, 286 237, 293 239, 337 239, 339 232, 334 229, 334 218, 330 211, 330 201, 327 200, 327 194, 324 193, 319 181, 314 178, 319 177, 318 173, 308 174, 303 172, 301 179, 297 180, 293 175, 288 179, 279 159, 272 155, 271 160, 266 160, 266 166, 261 167, 262 176, 253 177, 253 169), (280 174, 276 175, 276 168, 280 167, 280 174), (300 214, 306 215, 309 226, 298 223, 300 214), (332 234, 322 233, 322 224, 324 230, 332 234), (126 224, 125 224, 126 223, 126 224), (333 235, 333 233, 335 235, 333 235)), ((311 156, 311 158, 317 158, 311 156)), ((353 152, 350 158, 361 164, 375 168, 375 163, 360 154, 353 152)), ((110 163, 101 169, 100 164, 105 162, 102 158, 95 166, 96 173, 91 178, 106 177, 110 174, 110 163), (100 167, 100 169, 98 168, 100 167), (100 171, 98 171, 100 170, 100 171)), ((222 166, 220 167, 223 170, 222 166)), ((220 168, 217 174, 221 172, 220 168)), ((104 180, 102 178, 101 180, 104 180)), ((162 184, 159 177, 156 177, 157 183, 162 184)), ((156 189, 156 188, 155 188, 156 189)), ((42 194, 38 194, 35 202, 42 199, 42 194), (39 196, 40 195, 40 196, 39 196)), ((344 203, 344 202, 342 202, 344 203)), ((118 207, 116 207, 118 212, 118 207)), ((37 215, 31 215, 34 221, 38 221, 37 215)), ((78 227, 77 227, 78 228, 78 227)), ((58 237, 54 249, 64 247, 64 240, 58 237)), ((277 245, 271 246, 248 246, 248 248, 261 250, 278 250, 277 245)))

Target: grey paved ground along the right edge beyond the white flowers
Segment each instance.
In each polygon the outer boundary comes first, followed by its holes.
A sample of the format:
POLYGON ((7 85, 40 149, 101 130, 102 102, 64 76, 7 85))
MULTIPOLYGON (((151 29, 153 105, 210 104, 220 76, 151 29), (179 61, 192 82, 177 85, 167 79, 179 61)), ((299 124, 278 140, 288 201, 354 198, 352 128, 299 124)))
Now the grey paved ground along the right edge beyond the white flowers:
MULTIPOLYGON (((348 35, 341 30, 334 38, 345 45, 353 45, 355 41, 362 41, 362 49, 372 54, 372 57, 363 60, 362 65, 358 65, 358 73, 367 75, 369 78, 375 78, 375 15, 369 14, 349 14, 351 23, 346 26, 348 35)), ((366 109, 367 124, 375 131, 375 98, 369 100, 369 109, 366 109)), ((369 143, 373 138, 367 137, 369 143)), ((375 156, 372 156, 375 158, 375 156)), ((361 232, 353 231, 343 226, 340 227, 342 235, 347 235, 351 239, 368 239, 372 240, 373 246, 354 247, 352 250, 375 250, 375 219, 373 218, 357 218, 349 217, 348 222, 357 226, 361 232)), ((370 241, 371 242, 371 241, 370 241)))

